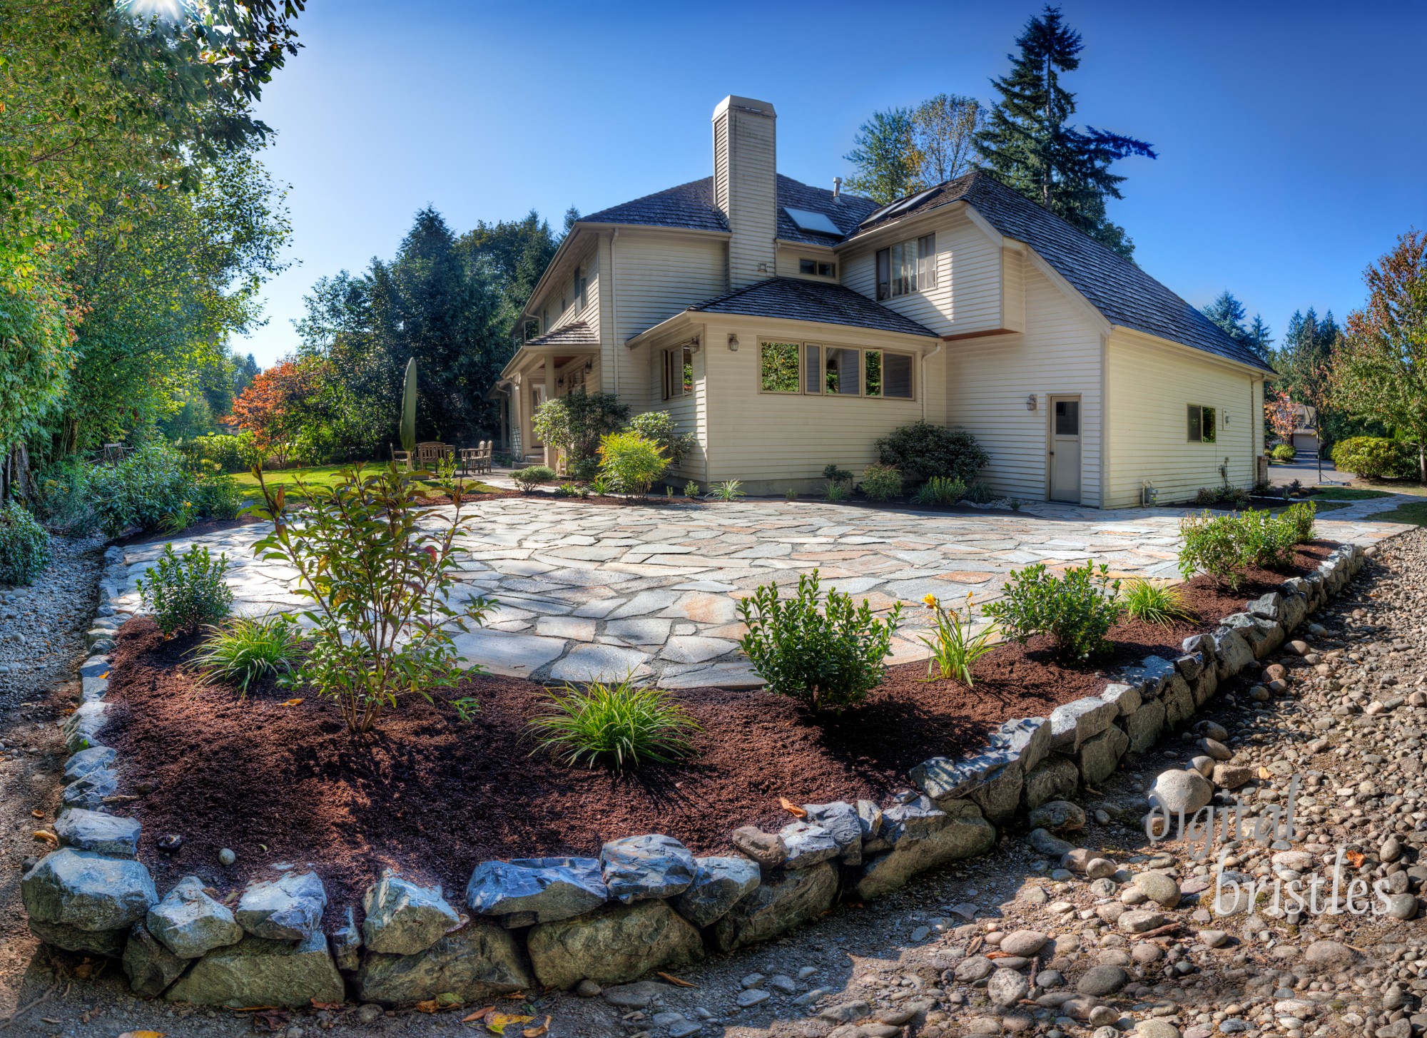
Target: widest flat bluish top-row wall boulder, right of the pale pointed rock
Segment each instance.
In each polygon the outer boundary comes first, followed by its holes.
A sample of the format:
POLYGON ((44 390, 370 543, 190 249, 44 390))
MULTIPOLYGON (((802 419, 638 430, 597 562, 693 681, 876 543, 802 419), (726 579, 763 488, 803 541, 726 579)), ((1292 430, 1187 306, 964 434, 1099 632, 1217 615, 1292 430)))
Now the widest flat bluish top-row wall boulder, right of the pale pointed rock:
POLYGON ((482 861, 471 873, 465 903, 481 915, 555 923, 584 915, 609 900, 596 858, 482 861))

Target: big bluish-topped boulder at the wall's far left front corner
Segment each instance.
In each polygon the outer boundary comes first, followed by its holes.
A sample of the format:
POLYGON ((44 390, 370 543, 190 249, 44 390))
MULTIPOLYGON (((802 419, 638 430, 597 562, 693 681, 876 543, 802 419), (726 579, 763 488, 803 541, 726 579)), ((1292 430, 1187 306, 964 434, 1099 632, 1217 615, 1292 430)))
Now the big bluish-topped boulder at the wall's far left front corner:
POLYGON ((94 931, 128 930, 144 918, 158 891, 148 870, 133 858, 61 847, 26 873, 20 897, 36 923, 94 931))

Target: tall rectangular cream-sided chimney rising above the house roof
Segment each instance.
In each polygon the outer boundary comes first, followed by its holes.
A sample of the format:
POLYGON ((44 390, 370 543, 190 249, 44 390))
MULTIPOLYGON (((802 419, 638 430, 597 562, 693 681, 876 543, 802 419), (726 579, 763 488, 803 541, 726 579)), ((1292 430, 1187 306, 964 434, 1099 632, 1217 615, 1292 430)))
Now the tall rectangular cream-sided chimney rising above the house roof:
POLYGON ((778 237, 778 113, 768 101, 725 97, 714 110, 714 204, 733 232, 728 285, 773 277, 778 237))

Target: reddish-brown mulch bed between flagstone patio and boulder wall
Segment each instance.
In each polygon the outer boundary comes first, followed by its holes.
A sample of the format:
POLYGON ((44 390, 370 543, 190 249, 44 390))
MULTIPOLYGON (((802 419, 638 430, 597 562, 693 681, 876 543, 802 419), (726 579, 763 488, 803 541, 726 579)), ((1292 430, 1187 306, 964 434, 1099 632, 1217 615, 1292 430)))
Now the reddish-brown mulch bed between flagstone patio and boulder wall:
POLYGON ((1250 570, 1236 593, 1190 580, 1183 587, 1200 623, 1120 625, 1114 656, 1097 669, 1060 667, 1043 640, 995 649, 977 664, 975 689, 922 680, 926 664, 906 663, 890 667, 860 709, 822 723, 766 692, 682 692, 704 726, 699 754, 624 777, 531 756, 525 726, 547 694, 531 682, 465 683, 459 693, 481 704, 471 721, 414 697, 352 740, 335 707, 313 696, 270 684, 238 699, 200 684, 186 664, 194 640, 164 639, 147 617, 118 634, 104 736, 118 750, 121 791, 148 790, 128 808, 143 821, 141 854, 160 888, 187 874, 234 887, 295 861, 314 865, 332 904, 345 905, 385 867, 459 893, 478 861, 589 855, 638 833, 668 833, 698 854, 729 853, 738 826, 791 821, 779 797, 883 800, 929 756, 970 750, 1006 719, 1092 694, 1116 666, 1177 656, 1183 637, 1310 572, 1331 549, 1304 545, 1290 572, 1250 570), (293 696, 303 700, 287 706, 293 696), (157 850, 166 834, 183 837, 171 855, 157 850), (237 851, 237 864, 217 864, 223 847, 237 851))

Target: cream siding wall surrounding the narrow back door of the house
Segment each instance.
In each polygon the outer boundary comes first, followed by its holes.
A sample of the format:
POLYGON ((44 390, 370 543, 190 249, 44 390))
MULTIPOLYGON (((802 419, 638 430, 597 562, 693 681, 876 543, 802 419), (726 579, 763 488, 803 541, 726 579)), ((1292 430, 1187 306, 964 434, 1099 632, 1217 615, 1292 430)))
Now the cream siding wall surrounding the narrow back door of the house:
POLYGON ((1080 396, 1080 502, 1100 503, 1100 328, 1030 264, 1026 331, 946 344, 946 411, 990 455, 982 478, 999 495, 1047 496, 1050 396, 1080 396), (1035 395, 1036 409, 1026 408, 1035 395))

